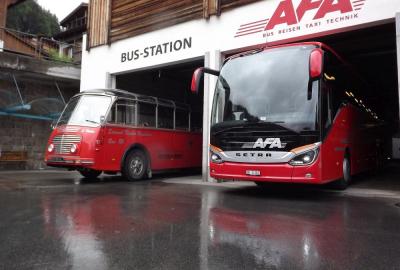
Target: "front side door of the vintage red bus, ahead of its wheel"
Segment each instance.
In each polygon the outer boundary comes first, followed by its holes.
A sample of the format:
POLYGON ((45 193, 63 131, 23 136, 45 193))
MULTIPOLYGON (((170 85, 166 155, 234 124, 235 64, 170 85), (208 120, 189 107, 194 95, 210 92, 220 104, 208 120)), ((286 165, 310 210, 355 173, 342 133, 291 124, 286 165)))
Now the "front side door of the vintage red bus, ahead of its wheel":
POLYGON ((128 99, 114 102, 103 130, 103 160, 107 169, 120 169, 121 159, 132 141, 136 139, 136 103, 128 99))

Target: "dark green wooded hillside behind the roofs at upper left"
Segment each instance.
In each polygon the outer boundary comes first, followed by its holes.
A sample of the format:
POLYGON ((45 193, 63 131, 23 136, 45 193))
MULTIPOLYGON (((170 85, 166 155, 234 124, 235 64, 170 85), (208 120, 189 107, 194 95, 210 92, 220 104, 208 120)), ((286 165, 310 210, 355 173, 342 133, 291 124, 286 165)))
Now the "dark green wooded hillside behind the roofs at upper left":
POLYGON ((7 28, 47 37, 60 32, 57 17, 43 9, 35 0, 27 0, 10 8, 7 15, 7 28))

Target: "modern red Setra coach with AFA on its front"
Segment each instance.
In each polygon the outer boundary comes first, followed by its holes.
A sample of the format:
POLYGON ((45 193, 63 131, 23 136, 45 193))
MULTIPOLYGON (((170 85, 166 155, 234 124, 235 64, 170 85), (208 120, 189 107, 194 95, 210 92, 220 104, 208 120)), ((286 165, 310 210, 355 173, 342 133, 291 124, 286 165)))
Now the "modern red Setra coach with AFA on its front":
POLYGON ((218 76, 210 134, 210 174, 257 184, 325 184, 344 189, 380 161, 378 116, 366 84, 328 46, 266 47, 228 58, 218 76))

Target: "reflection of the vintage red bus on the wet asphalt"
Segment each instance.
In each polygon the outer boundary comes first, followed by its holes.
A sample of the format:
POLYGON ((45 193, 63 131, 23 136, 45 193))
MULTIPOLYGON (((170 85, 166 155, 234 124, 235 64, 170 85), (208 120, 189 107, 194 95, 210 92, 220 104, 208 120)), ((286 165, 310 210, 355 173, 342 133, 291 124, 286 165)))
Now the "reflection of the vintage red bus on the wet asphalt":
POLYGON ((151 256, 166 256, 165 265, 174 263, 182 230, 198 215, 196 204, 187 204, 172 186, 120 187, 110 187, 115 194, 108 195, 66 191, 61 197, 43 196, 40 237, 65 250, 66 266, 162 269, 151 256))

